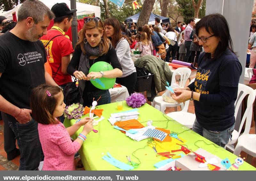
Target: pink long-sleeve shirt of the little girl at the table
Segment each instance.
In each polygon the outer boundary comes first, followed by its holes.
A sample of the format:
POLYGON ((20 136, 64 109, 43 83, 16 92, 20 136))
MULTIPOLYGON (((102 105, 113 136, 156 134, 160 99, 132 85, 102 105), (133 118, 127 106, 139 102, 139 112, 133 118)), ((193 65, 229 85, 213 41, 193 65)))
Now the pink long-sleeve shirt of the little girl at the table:
POLYGON ((43 170, 75 170, 74 155, 81 146, 70 140, 62 123, 38 124, 38 134, 44 152, 43 170))

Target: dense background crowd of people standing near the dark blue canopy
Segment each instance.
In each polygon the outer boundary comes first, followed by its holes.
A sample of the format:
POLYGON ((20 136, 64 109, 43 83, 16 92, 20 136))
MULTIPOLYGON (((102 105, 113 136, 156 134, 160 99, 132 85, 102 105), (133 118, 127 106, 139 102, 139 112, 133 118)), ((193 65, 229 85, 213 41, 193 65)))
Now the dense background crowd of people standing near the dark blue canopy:
POLYGON ((120 23, 123 27, 122 34, 130 37, 130 48, 138 49, 141 55, 154 55, 153 50, 155 49, 166 62, 180 60, 197 65, 198 57, 203 49, 195 37, 195 24, 194 18, 188 20, 188 25, 178 21, 174 28, 169 23, 160 23, 159 18, 155 18, 155 25, 145 25, 146 27, 136 28, 136 24, 131 23, 130 29, 128 29, 128 24, 120 23), (141 35, 142 32, 147 34, 148 41, 153 45, 153 50, 149 51, 151 49, 149 43, 145 44, 145 41, 136 40, 134 35, 141 35), (140 44, 144 49, 139 49, 140 44))

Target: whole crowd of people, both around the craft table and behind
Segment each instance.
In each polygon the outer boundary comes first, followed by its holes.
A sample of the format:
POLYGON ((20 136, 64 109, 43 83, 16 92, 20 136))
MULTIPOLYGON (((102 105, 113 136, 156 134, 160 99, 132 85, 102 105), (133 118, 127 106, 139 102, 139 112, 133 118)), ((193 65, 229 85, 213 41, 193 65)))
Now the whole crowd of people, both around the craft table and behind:
POLYGON ((194 62, 196 57, 199 68, 195 82, 174 89, 172 98, 177 102, 195 100, 193 130, 222 147, 227 144, 234 130, 234 102, 242 67, 222 15, 205 16, 196 26, 195 19, 190 18, 187 26, 178 22, 175 28, 168 23, 161 25, 156 18, 154 27, 136 28, 133 23, 131 30, 115 18, 104 22, 98 17, 85 18, 74 50, 65 36, 74 12, 65 3, 57 3, 50 10, 38 0, 26 0, 18 11, 17 23, 0 17, 2 31, 10 25, 0 36, 4 149, 8 160, 20 155, 19 170, 37 170, 42 160, 43 170, 75 169, 74 155, 92 131, 92 119, 86 117, 66 129, 62 124, 66 107, 62 89, 74 76, 79 82, 80 103, 88 107, 93 99, 100 98, 98 105, 111 101, 109 90, 94 87, 88 81, 91 79, 116 78, 129 94, 134 93, 137 74, 131 46, 142 56, 153 55, 156 50, 166 62, 170 57, 194 62), (54 25, 47 31, 52 19, 54 25), (202 46, 204 53, 199 56, 202 46), (89 73, 90 67, 100 61, 111 64, 113 70, 89 73), (46 71, 47 63, 52 75, 46 71), (81 126, 82 132, 72 141, 70 136, 81 126))

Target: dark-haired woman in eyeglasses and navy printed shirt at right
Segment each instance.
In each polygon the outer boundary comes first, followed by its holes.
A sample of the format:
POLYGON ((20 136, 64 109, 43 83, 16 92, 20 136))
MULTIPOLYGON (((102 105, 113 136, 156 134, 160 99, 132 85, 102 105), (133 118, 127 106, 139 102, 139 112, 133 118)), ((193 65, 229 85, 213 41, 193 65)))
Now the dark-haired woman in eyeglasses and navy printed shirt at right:
POLYGON ((194 100, 193 131, 225 147, 235 126, 235 101, 242 66, 233 51, 228 22, 210 14, 196 24, 196 38, 204 47, 196 78, 188 87, 175 89, 177 102, 194 100))

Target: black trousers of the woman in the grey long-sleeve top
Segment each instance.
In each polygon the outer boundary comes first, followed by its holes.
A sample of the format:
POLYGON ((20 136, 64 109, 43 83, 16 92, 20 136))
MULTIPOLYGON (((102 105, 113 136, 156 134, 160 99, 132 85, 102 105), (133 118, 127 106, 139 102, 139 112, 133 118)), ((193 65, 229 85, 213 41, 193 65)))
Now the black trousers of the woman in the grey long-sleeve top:
POLYGON ((126 87, 129 95, 134 93, 135 84, 137 80, 137 73, 133 72, 131 75, 122 78, 116 78, 116 83, 126 87))

